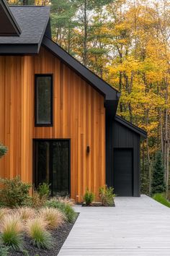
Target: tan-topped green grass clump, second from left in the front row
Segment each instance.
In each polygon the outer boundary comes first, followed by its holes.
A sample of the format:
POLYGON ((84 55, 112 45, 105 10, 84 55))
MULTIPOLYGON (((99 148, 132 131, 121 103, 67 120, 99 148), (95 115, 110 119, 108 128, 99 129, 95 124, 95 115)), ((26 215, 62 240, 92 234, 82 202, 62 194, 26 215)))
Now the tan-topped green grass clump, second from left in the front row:
POLYGON ((48 223, 43 218, 35 218, 27 221, 27 234, 31 237, 35 247, 50 249, 52 246, 52 236, 46 231, 48 223))

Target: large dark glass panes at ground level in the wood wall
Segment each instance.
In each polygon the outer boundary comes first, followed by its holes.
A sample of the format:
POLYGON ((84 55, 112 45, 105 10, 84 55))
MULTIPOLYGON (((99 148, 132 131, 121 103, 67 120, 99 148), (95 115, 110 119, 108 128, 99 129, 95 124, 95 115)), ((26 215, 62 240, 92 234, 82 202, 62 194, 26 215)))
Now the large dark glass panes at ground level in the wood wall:
POLYGON ((50 184, 53 196, 69 195, 69 140, 35 140, 35 187, 50 184))

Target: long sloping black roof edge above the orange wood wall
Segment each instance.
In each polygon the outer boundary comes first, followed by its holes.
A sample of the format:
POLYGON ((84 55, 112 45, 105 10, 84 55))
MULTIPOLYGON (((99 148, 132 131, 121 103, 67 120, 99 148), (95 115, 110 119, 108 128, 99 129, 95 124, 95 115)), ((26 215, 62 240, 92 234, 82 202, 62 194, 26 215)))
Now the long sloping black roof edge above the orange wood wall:
POLYGON ((81 74, 81 76, 88 80, 91 85, 94 85, 94 88, 97 88, 97 90, 105 95, 107 101, 118 102, 120 98, 120 92, 118 90, 112 88, 111 85, 98 77, 97 74, 94 74, 90 69, 87 69, 83 64, 61 48, 61 46, 58 46, 57 43, 53 42, 53 40, 44 36, 42 39, 42 46, 48 48, 53 54, 58 56, 59 59, 68 64, 69 67, 81 74))

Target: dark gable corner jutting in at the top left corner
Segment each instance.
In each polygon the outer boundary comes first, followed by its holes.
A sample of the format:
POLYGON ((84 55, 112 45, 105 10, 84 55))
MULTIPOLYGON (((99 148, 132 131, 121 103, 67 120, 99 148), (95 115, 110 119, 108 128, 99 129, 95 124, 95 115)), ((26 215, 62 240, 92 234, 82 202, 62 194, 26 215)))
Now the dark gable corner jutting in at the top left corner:
POLYGON ((6 1, 0 0, 0 35, 19 35, 21 30, 12 12, 10 11, 6 1))

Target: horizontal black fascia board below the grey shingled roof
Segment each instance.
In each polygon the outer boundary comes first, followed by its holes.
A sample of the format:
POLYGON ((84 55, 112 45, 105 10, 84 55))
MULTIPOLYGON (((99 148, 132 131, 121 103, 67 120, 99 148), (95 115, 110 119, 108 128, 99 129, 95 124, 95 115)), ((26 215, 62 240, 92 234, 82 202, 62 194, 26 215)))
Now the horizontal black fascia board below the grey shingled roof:
POLYGON ((39 44, 0 44, 0 55, 38 54, 39 44))

